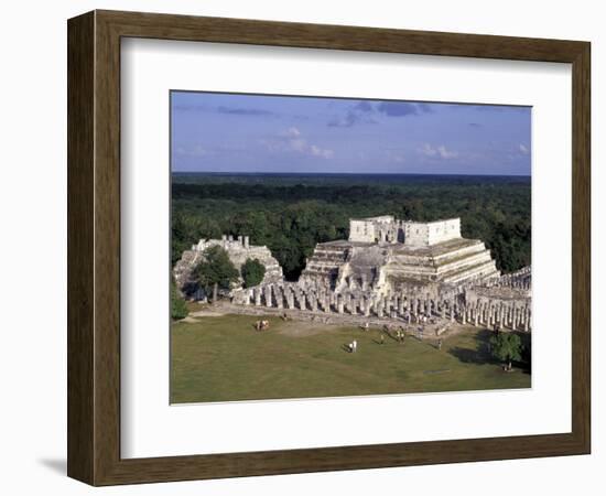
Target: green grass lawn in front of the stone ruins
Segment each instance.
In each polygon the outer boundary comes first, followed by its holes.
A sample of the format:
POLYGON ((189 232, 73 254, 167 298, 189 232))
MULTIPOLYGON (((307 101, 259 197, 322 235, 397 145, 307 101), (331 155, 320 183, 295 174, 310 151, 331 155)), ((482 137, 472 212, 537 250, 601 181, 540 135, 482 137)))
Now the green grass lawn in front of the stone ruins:
POLYGON ((407 336, 404 344, 379 331, 362 332, 269 317, 205 316, 175 323, 171 336, 171 402, 313 398, 530 387, 522 369, 504 373, 486 349, 487 331, 433 342, 407 336), (358 341, 357 353, 346 343, 358 341))

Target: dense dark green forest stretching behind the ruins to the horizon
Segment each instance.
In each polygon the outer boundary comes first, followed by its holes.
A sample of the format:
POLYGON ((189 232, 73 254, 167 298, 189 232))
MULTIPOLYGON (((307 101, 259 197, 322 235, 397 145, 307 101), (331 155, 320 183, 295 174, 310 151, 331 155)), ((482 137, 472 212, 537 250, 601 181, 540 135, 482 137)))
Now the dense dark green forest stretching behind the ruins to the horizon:
POLYGON ((390 214, 461 217, 462 235, 485 241, 499 270, 530 265, 529 177, 383 175, 173 175, 173 263, 201 238, 248 235, 296 280, 317 242, 347 239, 349 218, 390 214))

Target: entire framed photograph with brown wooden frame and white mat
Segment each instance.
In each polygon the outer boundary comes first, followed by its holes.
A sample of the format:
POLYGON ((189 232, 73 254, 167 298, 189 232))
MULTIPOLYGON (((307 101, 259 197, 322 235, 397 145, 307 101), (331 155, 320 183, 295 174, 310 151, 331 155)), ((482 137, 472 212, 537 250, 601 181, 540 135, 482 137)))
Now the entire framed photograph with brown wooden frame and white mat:
POLYGON ((68 21, 68 475, 589 453, 589 43, 68 21))

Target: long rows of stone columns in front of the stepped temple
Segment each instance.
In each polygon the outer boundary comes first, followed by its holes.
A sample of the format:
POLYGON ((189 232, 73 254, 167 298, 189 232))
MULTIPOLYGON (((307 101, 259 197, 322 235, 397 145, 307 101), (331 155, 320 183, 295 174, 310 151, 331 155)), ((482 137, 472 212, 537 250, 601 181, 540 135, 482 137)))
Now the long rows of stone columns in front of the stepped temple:
POLYGON ((532 309, 529 293, 501 294, 497 291, 498 288, 481 293, 481 289, 486 288, 443 287, 440 293, 430 295, 420 287, 379 296, 370 290, 345 289, 334 292, 329 287, 310 289, 301 288, 297 282, 283 281, 235 290, 231 303, 250 309, 242 310, 247 313, 283 309, 286 314, 296 311, 297 316, 303 313, 315 315, 316 319, 331 315, 348 317, 358 324, 381 322, 404 328, 411 326, 411 330, 419 325, 430 328, 433 326, 436 336, 453 324, 501 331, 531 331, 532 309))

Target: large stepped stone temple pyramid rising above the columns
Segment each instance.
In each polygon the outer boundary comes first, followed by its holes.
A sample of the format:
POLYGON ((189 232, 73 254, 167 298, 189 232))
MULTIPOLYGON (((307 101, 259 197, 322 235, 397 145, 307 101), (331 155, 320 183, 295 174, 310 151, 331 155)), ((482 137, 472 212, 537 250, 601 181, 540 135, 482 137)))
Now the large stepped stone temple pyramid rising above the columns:
POLYGON ((461 237, 461 219, 415 223, 386 215, 351 219, 349 239, 316 245, 300 282, 387 294, 410 285, 498 276, 484 242, 461 237))

